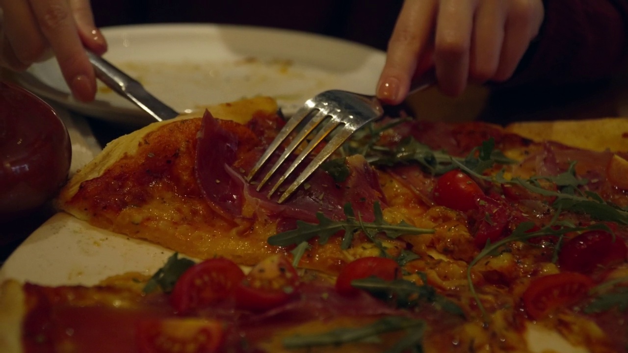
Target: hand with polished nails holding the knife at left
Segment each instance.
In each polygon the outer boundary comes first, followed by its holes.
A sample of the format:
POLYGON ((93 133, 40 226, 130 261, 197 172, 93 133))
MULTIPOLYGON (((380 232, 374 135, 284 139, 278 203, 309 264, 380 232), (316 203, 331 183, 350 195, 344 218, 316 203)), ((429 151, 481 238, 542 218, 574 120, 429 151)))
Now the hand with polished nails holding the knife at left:
POLYGON ((55 55, 77 99, 94 100, 94 68, 85 48, 102 55, 107 43, 94 24, 89 0, 0 0, 0 65, 25 70, 55 55))

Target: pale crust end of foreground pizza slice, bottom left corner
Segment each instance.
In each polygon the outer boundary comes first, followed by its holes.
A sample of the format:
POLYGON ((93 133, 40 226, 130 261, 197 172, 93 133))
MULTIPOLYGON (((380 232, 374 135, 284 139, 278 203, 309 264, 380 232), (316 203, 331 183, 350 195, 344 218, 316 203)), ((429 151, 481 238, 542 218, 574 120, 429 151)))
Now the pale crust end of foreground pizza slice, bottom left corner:
POLYGON ((22 286, 8 280, 0 287, 0 352, 19 353, 22 347, 22 323, 26 315, 22 286))

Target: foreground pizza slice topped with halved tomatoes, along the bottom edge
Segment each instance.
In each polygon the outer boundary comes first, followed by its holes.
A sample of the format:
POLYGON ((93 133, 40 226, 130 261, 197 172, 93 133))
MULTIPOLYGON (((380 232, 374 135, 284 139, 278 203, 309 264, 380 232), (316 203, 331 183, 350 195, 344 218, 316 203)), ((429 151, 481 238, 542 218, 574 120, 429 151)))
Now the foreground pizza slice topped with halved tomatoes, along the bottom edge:
MULTIPOLYGON (((394 278, 398 265, 392 264, 386 276, 394 278)), ((282 256, 264 259, 244 274, 225 258, 193 264, 175 254, 160 271, 149 281, 127 274, 92 287, 4 283, 0 305, 15 315, 4 315, 3 323, 13 329, 0 334, 0 348, 8 353, 381 352, 399 339, 415 347, 425 335, 425 343, 436 344, 428 344, 428 351, 438 351, 441 338, 463 323, 459 309, 439 298, 452 312, 425 301, 428 329, 425 319, 362 291, 347 293, 327 278, 299 275, 282 256), (166 278, 176 272, 180 276, 170 283, 166 278), (163 291, 153 290, 156 285, 163 291), (23 327, 21 336, 16 327, 23 327)))

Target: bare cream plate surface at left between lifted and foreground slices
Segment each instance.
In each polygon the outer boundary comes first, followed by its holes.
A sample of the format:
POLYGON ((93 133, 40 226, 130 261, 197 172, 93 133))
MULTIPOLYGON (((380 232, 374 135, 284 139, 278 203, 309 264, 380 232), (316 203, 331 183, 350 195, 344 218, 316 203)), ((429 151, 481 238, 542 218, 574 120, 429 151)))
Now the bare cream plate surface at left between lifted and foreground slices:
POLYGON ((96 285, 116 274, 153 274, 172 253, 60 213, 9 256, 0 268, 0 283, 11 278, 48 286, 96 285))

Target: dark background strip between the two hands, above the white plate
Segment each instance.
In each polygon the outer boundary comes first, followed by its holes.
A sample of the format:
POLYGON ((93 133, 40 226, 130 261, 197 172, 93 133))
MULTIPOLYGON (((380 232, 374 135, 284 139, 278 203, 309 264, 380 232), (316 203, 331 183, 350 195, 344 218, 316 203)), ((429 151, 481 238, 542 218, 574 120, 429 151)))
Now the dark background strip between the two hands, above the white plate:
POLYGON ((246 24, 319 33, 385 50, 402 3, 402 0, 92 0, 92 9, 97 26, 246 24))

